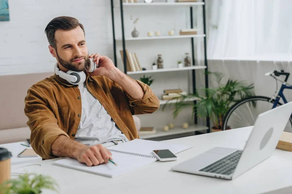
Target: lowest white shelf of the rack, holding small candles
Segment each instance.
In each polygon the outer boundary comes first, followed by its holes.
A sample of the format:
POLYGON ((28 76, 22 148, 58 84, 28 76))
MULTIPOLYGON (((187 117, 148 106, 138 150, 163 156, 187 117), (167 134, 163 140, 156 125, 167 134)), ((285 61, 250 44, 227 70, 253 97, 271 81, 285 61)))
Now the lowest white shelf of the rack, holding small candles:
POLYGON ((195 132, 195 131, 206 130, 206 129, 208 129, 208 127, 201 126, 201 125, 189 125, 188 129, 177 127, 174 129, 169 129, 169 131, 164 131, 163 129, 156 129, 155 134, 140 135, 140 139, 163 137, 163 136, 168 136, 168 135, 177 135, 177 134, 195 132))

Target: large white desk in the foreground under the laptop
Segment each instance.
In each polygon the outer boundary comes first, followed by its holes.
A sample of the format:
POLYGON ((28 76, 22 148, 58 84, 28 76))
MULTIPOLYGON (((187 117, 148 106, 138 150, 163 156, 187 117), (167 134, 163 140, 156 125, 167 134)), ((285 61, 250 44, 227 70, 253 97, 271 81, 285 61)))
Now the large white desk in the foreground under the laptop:
MULTIPOLYGON (((209 178, 170 171, 180 162, 214 146, 242 149, 251 128, 233 129, 180 139, 170 143, 191 145, 193 148, 178 154, 178 161, 154 162, 116 178, 106 178, 82 171, 52 165, 57 160, 37 162, 41 166, 14 168, 52 176, 60 185, 61 194, 259 194, 281 189, 291 190, 292 153, 276 149, 266 161, 234 180, 209 178)), ((278 194, 279 191, 271 194, 278 194)), ((44 191, 43 193, 49 193, 44 191)))

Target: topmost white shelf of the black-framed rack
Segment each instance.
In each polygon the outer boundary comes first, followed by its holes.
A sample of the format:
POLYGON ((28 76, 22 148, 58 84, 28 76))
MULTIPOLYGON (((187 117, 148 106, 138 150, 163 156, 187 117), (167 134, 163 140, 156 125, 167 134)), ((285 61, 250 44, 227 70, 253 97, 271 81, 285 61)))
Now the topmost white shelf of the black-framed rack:
MULTIPOLYGON (((204 2, 157 2, 157 3, 123 3, 123 7, 143 7, 143 6, 196 6, 196 5, 204 5, 204 2)), ((120 7, 120 5, 116 5, 115 7, 120 7)))

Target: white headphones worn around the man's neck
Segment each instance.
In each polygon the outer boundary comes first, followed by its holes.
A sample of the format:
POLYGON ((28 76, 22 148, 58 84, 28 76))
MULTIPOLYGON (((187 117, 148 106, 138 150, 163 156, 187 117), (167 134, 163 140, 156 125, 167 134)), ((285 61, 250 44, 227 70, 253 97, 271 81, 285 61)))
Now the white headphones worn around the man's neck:
MULTIPOLYGON (((96 68, 95 62, 93 62, 93 59, 90 58, 90 64, 86 68, 86 70, 90 73, 92 73, 96 68)), ((55 74, 58 75, 60 78, 63 78, 67 80, 69 83, 73 85, 78 85, 80 83, 83 83, 86 80, 86 74, 83 71, 67 71, 66 73, 59 70, 58 63, 55 64, 55 74)))

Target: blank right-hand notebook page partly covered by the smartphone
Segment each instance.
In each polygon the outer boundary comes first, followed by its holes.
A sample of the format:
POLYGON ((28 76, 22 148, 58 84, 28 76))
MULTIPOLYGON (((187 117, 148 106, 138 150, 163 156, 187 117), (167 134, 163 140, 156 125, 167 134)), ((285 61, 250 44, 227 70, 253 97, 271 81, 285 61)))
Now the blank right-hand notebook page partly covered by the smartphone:
POLYGON ((156 149, 169 149, 172 153, 177 154, 184 150, 190 149, 192 146, 170 144, 166 142, 157 142, 143 139, 134 139, 132 141, 119 144, 116 146, 110 146, 109 149, 115 149, 120 151, 133 152, 137 154, 152 155, 152 150, 156 149))

